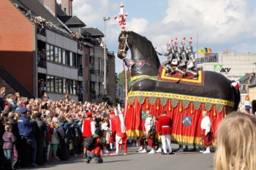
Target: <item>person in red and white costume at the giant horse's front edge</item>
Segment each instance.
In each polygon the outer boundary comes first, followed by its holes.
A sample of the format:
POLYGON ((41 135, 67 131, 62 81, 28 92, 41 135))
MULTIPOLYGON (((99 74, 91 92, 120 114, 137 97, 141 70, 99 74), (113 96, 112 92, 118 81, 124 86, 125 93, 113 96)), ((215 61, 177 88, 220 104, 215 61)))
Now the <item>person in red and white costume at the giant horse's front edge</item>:
POLYGON ((116 155, 118 155, 119 149, 121 149, 122 145, 124 146, 124 155, 127 155, 127 134, 126 126, 124 124, 124 115, 121 112, 120 105, 118 104, 118 114, 115 109, 115 120, 116 120, 116 155), (121 144, 121 145, 119 145, 121 144))

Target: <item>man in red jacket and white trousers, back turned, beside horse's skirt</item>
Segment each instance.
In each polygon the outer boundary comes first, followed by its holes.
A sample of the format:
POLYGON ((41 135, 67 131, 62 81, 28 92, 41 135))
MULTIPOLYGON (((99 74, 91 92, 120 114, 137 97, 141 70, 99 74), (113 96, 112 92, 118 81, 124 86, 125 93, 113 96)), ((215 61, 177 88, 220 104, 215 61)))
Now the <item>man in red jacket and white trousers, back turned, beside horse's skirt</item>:
POLYGON ((162 149, 164 150, 162 155, 174 154, 172 147, 170 146, 171 127, 172 127, 172 120, 170 116, 167 116, 166 112, 162 111, 161 116, 159 117, 159 120, 157 122, 157 131, 161 136, 162 149), (169 150, 168 153, 167 153, 166 143, 169 150))

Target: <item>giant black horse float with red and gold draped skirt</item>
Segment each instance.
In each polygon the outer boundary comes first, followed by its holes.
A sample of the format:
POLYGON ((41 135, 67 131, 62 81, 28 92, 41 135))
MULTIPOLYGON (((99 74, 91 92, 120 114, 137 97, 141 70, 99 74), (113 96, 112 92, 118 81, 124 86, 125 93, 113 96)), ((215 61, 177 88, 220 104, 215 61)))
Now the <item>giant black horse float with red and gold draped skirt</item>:
MULTIPOLYGON (((167 76, 156 50, 145 36, 133 31, 121 31, 118 36, 118 58, 130 67, 131 87, 127 90, 125 124, 128 139, 138 140, 146 131, 146 110, 154 117, 166 111, 173 120, 171 140, 186 145, 203 145, 200 121, 206 110, 211 119, 211 131, 216 135, 219 123, 238 109, 240 92, 222 74, 194 71, 182 76, 176 72, 167 76), (126 58, 130 50, 131 59, 126 58)), ((157 138, 159 138, 157 134, 157 138)), ((217 140, 213 139, 213 146, 217 140)))

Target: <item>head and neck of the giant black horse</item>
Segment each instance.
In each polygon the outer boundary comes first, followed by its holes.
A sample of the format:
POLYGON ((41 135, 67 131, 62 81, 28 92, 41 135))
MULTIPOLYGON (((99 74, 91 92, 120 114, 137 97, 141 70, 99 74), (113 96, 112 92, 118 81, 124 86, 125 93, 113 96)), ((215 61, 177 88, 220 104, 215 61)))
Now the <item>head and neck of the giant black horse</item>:
POLYGON ((145 36, 133 31, 122 31, 118 36, 118 58, 131 66, 132 76, 156 76, 160 65, 157 53, 145 36), (131 50, 131 60, 127 59, 127 50, 131 50))

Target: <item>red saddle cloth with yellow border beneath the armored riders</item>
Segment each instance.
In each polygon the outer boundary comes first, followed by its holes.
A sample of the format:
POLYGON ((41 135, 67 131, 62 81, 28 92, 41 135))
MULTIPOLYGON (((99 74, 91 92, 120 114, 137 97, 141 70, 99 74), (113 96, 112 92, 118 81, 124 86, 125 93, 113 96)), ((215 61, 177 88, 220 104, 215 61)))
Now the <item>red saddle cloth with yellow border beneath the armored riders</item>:
MULTIPOLYGON (((186 72, 186 70, 184 70, 186 72)), ((202 71, 193 71, 198 74, 197 78, 194 78, 193 74, 187 72, 187 76, 183 77, 182 74, 178 71, 172 75, 167 75, 165 69, 162 66, 159 67, 159 74, 157 80, 162 80, 165 82, 179 82, 187 85, 204 85, 205 74, 202 71)))

